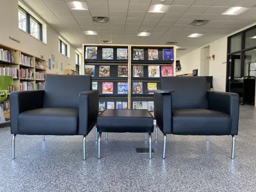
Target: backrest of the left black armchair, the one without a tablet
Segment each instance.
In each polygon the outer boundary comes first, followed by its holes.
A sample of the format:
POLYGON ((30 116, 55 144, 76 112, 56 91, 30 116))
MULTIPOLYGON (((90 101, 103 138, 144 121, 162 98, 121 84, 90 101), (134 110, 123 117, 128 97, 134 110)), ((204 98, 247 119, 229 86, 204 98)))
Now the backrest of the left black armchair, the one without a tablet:
POLYGON ((91 76, 46 76, 44 108, 78 108, 79 93, 89 90, 91 76))

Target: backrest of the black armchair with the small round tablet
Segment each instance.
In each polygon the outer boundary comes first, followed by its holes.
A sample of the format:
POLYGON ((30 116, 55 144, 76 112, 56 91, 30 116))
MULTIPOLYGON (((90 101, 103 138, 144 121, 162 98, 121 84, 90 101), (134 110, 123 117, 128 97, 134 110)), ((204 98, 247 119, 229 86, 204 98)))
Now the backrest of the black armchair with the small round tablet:
POLYGON ((172 94, 173 109, 208 109, 205 77, 161 77, 163 90, 172 94))

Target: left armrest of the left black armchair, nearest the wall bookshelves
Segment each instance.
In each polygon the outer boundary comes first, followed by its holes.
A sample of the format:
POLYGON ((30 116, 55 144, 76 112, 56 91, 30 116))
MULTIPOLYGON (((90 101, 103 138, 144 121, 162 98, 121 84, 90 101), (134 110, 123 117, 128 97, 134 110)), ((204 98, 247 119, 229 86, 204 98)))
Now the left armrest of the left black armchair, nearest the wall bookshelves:
POLYGON ((19 114, 24 111, 42 108, 44 90, 10 93, 10 118, 12 134, 19 134, 19 114))

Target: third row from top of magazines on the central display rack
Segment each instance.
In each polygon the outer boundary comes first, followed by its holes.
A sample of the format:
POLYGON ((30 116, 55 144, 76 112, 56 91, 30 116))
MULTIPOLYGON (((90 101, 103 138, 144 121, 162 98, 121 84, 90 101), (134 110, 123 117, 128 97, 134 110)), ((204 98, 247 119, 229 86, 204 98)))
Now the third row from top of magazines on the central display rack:
MULTIPOLYGON (((98 82, 92 83, 92 89, 98 90, 98 82)), ((147 83, 147 90, 157 90, 157 83, 147 83)), ((103 94, 113 94, 113 82, 102 82, 102 93, 103 94)), ((117 93, 118 94, 128 94, 128 83, 127 82, 117 83, 117 93)), ((132 93, 142 94, 143 93, 143 83, 142 82, 132 82, 132 93)))

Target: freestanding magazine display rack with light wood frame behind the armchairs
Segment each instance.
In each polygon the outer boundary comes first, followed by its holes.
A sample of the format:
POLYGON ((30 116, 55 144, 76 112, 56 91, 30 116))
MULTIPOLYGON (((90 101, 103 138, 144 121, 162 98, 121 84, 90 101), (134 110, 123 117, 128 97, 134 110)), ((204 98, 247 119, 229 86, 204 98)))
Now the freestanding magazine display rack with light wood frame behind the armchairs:
MULTIPOLYGON (((174 68, 173 63, 175 63, 175 54, 176 54, 175 46, 169 46, 169 45, 84 44, 83 45, 84 74, 92 75, 93 74, 92 71, 94 71, 94 76, 92 77, 93 83, 97 82, 97 90, 99 90, 99 93, 100 93, 100 102, 101 104, 102 102, 105 102, 106 109, 108 107, 107 102, 115 102, 116 104, 116 102, 127 101, 128 109, 133 109, 134 107, 133 102, 138 102, 137 105, 139 106, 141 102, 149 101, 151 102, 150 105, 152 105, 152 101, 154 100, 154 95, 147 93, 148 85, 151 88, 153 86, 156 89, 161 88, 160 79, 162 76, 161 74, 162 69, 166 71, 167 74, 169 72, 168 76, 173 76, 173 68, 174 68), (88 49, 88 47, 91 47, 91 48, 97 47, 97 54, 95 54, 95 48, 88 49), (109 56, 111 59, 108 59, 108 60, 103 59, 103 57, 106 58, 106 51, 104 51, 104 48, 113 49, 113 58, 109 56), (118 49, 127 49, 127 60, 118 60, 117 58, 118 49), (134 60, 134 56, 133 56, 134 49, 143 50, 143 54, 144 54, 143 60, 134 60), (154 49, 153 51, 155 51, 155 53, 157 50, 157 53, 158 53, 157 60, 148 59, 148 49, 154 49), (169 51, 168 54, 170 54, 170 58, 168 58, 168 60, 163 59, 163 57, 166 59, 166 52, 167 52, 166 49, 168 49, 169 51), (163 56, 163 50, 164 50, 165 56, 163 56), (88 55, 86 56, 88 52, 90 52, 89 57, 88 55), (172 60, 171 60, 171 56, 172 56, 172 60), (100 73, 102 74, 102 72, 100 72, 102 71, 102 68, 101 68, 102 66, 109 66, 109 68, 106 69, 106 72, 108 72, 108 70, 110 72, 108 77, 100 77, 100 73), (119 66, 127 66, 127 71, 128 71, 127 77, 118 77, 118 70, 120 70, 119 66), (156 77, 153 77, 152 75, 148 75, 149 67, 150 67, 150 73, 152 72, 151 69, 154 70, 155 68, 159 68, 158 75, 156 77), (143 76, 141 76, 141 73, 143 73, 143 76), (102 83, 104 82, 113 83, 113 92, 111 92, 110 94, 102 93, 102 88, 105 87, 105 85, 102 85, 102 83), (127 85, 128 85, 127 86, 128 93, 118 94, 117 93, 118 83, 125 83, 125 82, 127 82, 127 85), (136 87, 135 92, 134 92, 134 86, 136 87), (143 90, 142 92, 140 91, 141 86, 143 90)), ((150 56, 152 56, 152 50, 150 50, 150 56)), ((152 59, 152 57, 150 59, 152 59)), ((104 71, 104 68, 103 68, 103 71, 104 71)), ((103 104, 102 106, 100 106, 100 108, 103 108, 103 104)), ((116 106, 115 106, 115 109, 116 109, 116 106)), ((147 109, 148 109, 148 106, 147 106, 147 109)), ((149 111, 154 111, 154 109, 150 108, 149 111)))

